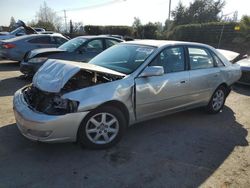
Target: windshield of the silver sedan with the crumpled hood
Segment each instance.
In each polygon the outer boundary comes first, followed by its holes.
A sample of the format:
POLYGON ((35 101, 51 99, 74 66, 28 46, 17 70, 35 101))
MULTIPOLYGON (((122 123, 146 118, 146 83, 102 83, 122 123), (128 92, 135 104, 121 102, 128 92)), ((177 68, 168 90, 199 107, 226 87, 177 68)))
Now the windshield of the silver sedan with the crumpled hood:
POLYGON ((115 45, 93 58, 89 63, 121 73, 134 72, 155 50, 151 46, 115 45))

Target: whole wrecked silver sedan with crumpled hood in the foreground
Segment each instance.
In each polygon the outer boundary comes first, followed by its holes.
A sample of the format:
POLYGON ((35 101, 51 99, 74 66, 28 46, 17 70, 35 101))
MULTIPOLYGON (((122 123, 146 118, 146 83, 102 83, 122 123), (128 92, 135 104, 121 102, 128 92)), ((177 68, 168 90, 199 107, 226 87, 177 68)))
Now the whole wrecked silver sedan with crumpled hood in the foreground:
POLYGON ((131 41, 89 63, 48 60, 15 93, 14 113, 31 140, 106 148, 136 122, 201 106, 220 112, 240 76, 239 65, 208 45, 131 41))

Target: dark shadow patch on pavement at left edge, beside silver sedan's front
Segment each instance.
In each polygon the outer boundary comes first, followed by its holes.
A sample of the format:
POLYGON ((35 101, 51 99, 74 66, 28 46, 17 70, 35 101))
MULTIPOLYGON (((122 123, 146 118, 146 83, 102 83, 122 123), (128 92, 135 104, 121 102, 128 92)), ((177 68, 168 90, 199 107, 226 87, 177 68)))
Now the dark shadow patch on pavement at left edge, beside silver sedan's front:
POLYGON ((31 83, 31 80, 21 79, 20 77, 3 79, 0 82, 0 97, 12 96, 18 89, 29 83, 31 83))

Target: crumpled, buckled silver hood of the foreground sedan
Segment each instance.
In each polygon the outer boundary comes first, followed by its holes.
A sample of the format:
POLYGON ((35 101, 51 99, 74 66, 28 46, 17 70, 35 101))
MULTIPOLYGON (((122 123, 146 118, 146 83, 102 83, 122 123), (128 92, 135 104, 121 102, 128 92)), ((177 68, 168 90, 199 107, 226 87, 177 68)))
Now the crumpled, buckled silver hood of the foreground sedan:
POLYGON ((81 69, 116 76, 125 76, 125 74, 120 72, 89 63, 49 59, 36 72, 32 82, 35 87, 42 91, 58 93, 68 82, 68 80, 81 69))

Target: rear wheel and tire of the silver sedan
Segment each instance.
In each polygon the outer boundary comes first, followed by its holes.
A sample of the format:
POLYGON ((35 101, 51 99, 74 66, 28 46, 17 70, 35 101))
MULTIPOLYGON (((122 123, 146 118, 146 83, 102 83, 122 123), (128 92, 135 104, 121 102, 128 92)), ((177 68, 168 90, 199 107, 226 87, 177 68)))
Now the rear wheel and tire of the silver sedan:
POLYGON ((219 86, 213 93, 210 102, 207 105, 207 111, 210 114, 216 114, 222 110, 226 100, 226 88, 219 86))

